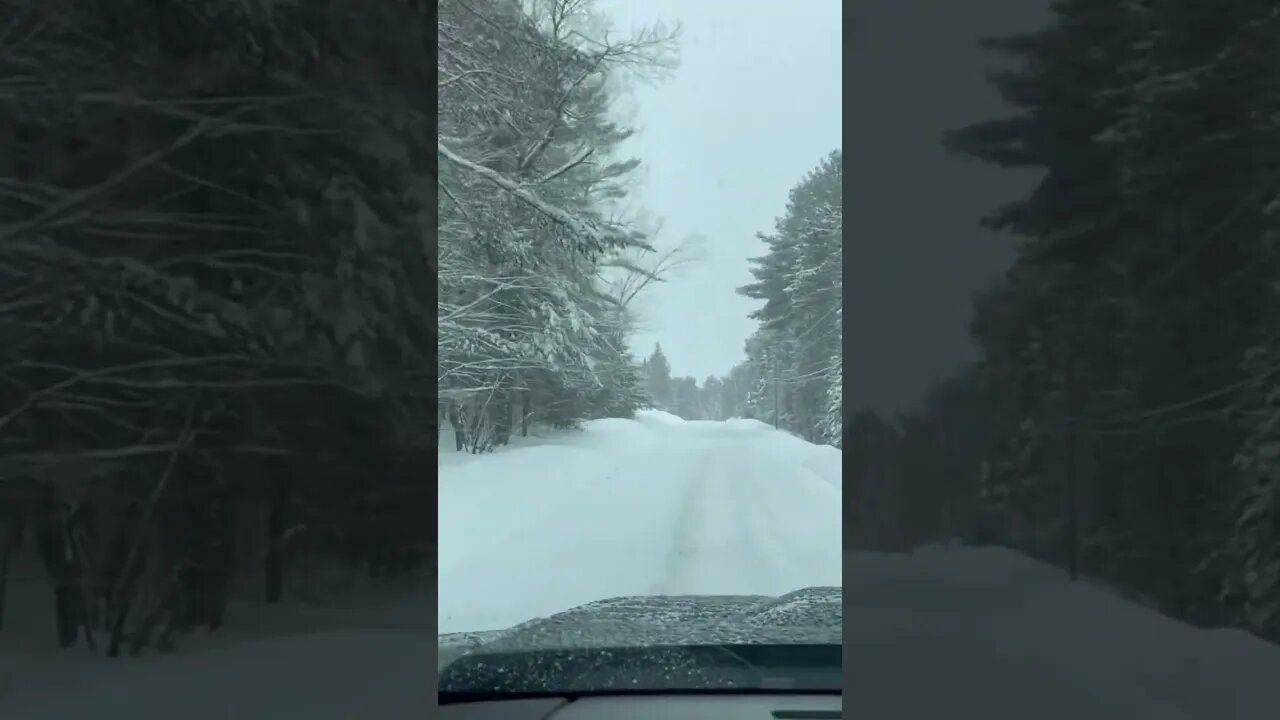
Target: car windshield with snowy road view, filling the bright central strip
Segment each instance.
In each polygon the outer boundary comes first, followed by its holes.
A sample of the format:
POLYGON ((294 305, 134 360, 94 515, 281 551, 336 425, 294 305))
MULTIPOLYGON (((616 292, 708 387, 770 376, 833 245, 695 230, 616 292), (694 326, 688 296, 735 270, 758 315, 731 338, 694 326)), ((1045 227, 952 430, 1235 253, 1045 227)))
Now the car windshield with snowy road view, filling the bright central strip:
POLYGON ((442 656, 833 691, 841 3, 516 8, 440 3, 442 656))

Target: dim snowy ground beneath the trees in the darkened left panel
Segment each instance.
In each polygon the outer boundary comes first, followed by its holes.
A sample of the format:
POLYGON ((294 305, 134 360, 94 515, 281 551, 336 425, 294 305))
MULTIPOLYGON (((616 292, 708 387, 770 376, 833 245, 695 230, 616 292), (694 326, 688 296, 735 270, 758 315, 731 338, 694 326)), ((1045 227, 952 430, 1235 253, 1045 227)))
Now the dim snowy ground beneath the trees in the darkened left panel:
POLYGON ((0 630, 6 720, 410 720, 434 703, 429 582, 323 605, 237 601, 215 634, 115 660, 50 647, 52 591, 36 589, 10 588, 0 630))

